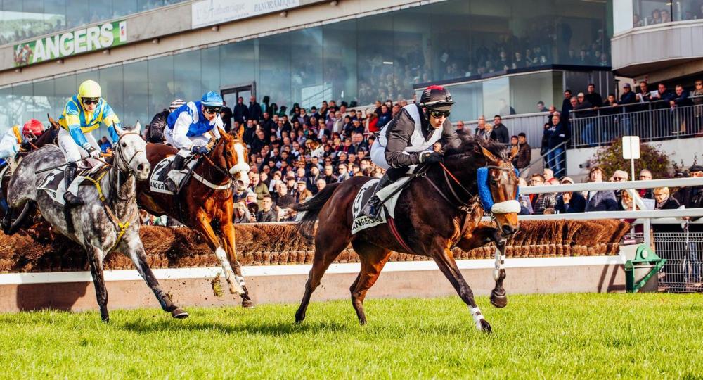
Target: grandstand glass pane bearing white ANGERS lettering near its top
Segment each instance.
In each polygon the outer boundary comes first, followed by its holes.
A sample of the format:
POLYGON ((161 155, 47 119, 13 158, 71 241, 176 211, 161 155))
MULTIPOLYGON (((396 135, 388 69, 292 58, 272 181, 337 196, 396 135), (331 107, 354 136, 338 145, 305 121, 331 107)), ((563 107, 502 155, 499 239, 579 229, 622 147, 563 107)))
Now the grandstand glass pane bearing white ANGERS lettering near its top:
POLYGON ((361 18, 357 30, 359 104, 396 99, 400 89, 394 86, 392 13, 361 18))

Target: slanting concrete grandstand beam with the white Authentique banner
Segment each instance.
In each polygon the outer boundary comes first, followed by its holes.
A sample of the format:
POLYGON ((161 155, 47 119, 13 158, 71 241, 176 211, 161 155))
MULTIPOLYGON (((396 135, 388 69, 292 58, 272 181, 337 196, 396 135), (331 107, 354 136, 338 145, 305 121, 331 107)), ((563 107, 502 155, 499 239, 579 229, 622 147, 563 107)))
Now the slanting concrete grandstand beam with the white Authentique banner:
POLYGON ((16 72, 13 46, 6 46, 0 49, 0 86, 432 2, 435 1, 342 0, 337 6, 332 6, 328 1, 301 0, 302 6, 288 11, 285 17, 273 13, 237 20, 219 25, 217 31, 212 30, 212 27, 191 30, 191 4, 177 4, 127 17, 128 39, 134 42, 110 49, 109 54, 103 51, 85 53, 64 58, 63 64, 48 61, 27 66, 22 68, 21 72, 16 72), (152 43, 155 38, 158 38, 157 44, 152 43))

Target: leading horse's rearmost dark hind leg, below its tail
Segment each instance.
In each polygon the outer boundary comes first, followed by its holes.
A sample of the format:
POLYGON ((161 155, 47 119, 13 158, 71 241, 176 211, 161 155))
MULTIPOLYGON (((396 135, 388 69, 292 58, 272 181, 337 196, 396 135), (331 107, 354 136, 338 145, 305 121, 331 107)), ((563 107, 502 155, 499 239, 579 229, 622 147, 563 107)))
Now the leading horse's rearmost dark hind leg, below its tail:
MULTIPOLYGON (((342 234, 348 234, 348 232, 345 231, 342 232, 342 234)), ((335 258, 342 253, 342 250, 347 248, 347 245, 349 245, 349 235, 340 236, 339 232, 318 227, 315 238, 315 257, 312 262, 312 269, 308 274, 307 283, 305 283, 305 294, 303 295, 302 301, 300 301, 297 312, 295 312, 295 323, 303 322, 312 292, 320 285, 320 280, 327 268, 330 267, 330 264, 335 261, 335 258), (323 241, 323 239, 332 241, 323 241)))

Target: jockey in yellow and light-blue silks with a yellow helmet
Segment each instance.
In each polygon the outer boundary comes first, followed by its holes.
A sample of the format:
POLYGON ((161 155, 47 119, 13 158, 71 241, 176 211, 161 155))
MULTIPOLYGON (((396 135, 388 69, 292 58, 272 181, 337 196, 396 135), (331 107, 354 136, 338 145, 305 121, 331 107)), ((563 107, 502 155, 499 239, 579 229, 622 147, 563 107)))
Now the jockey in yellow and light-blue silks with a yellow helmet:
MULTIPOLYGON (((58 146, 66 156, 64 183, 66 189, 76 177, 78 164, 76 161, 89 156, 100 157, 100 146, 91 134, 101 123, 108 126, 108 133, 113 143, 117 142, 115 126, 120 127, 120 119, 110 105, 103 99, 100 84, 86 80, 78 87, 78 94, 73 96, 58 119, 61 130, 58 132, 58 146)), ((82 205, 83 201, 70 191, 63 194, 67 205, 82 205)))

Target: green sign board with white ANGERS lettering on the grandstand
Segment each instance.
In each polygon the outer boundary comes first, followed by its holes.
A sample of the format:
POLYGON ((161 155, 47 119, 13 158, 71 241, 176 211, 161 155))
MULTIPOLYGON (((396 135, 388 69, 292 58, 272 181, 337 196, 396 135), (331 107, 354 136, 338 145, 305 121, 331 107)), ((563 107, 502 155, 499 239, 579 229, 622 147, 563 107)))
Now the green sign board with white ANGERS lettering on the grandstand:
POLYGON ((15 45, 15 67, 127 43, 127 20, 84 27, 15 45))

